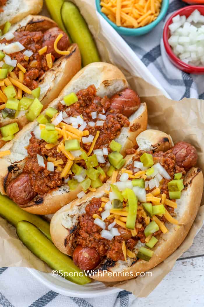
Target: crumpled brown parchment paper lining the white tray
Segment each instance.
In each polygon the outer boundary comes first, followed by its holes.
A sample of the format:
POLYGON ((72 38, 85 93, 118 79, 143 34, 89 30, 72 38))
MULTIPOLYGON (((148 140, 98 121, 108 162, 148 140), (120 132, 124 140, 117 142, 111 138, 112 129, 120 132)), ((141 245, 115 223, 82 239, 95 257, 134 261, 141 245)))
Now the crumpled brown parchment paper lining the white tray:
MULTIPOLYGON (((128 61, 128 55, 121 52, 120 46, 108 41, 101 29, 95 12, 94 0, 75 0, 95 37, 103 61, 117 65, 125 74, 132 89, 138 92, 147 103, 149 128, 163 130, 170 134, 174 142, 187 141, 198 151, 198 165, 204 172, 204 101, 199 99, 167 99, 162 92, 145 80, 140 67, 128 61)), ((46 8, 42 15, 49 16, 46 8)), ((148 43, 148 42, 147 42, 148 43)), ((136 297, 146 297, 172 269, 180 257, 193 243, 204 220, 203 200, 198 215, 186 239, 164 262, 151 270, 152 276, 138 277, 125 282, 105 283, 131 291, 136 297)), ((33 255, 17 238, 15 228, 0 218, 0 267, 23 266, 43 272, 51 269, 33 255)))

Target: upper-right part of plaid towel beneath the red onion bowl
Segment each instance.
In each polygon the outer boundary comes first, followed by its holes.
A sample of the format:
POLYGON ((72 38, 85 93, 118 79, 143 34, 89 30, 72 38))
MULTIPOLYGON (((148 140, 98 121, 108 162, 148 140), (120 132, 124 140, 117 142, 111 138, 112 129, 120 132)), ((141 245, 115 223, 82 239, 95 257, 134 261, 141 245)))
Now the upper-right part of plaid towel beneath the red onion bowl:
POLYGON ((163 44, 165 21, 174 11, 184 6, 186 4, 181 0, 170 0, 167 16, 150 33, 123 38, 172 99, 204 99, 203 75, 189 75, 176 68, 169 61, 163 44))

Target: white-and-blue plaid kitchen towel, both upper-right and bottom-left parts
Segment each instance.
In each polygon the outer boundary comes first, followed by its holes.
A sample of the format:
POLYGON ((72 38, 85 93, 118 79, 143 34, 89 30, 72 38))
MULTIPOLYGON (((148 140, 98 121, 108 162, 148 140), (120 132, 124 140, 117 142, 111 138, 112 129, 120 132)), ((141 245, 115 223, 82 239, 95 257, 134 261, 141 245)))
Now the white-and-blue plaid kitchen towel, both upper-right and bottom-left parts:
MULTIPOLYGON (((180 0, 170 1, 167 17, 185 6, 180 0)), ((203 76, 188 75, 168 60, 162 41, 164 18, 150 33, 141 37, 124 37, 137 56, 148 67, 170 97, 204 99, 203 76)), ((129 307, 135 297, 127 291, 98 297, 75 298, 55 293, 36 280, 25 268, 0 269, 0 307, 129 307)))

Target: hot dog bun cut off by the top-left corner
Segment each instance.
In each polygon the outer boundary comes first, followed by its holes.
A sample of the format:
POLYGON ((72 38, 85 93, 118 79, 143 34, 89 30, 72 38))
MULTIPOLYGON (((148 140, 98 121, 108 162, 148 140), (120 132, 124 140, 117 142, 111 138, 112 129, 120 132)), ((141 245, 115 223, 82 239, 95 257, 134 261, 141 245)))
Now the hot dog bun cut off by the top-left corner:
POLYGON ((18 22, 29 14, 38 14, 43 7, 43 0, 7 0, 0 13, 0 29, 6 21, 18 22))

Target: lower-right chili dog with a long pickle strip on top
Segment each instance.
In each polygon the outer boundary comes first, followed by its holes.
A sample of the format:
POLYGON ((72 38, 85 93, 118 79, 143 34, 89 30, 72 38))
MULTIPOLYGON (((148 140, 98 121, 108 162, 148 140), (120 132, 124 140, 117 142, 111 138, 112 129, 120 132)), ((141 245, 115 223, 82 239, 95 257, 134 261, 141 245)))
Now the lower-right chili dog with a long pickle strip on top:
POLYGON ((169 135, 156 130, 143 131, 137 142, 154 150, 139 147, 111 183, 51 220, 56 247, 83 270, 106 270, 92 276, 99 281, 130 279, 165 260, 183 242, 200 206, 203 175, 195 167, 195 147, 173 146, 169 135))

